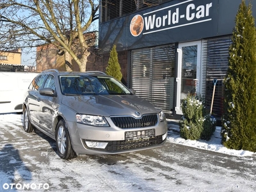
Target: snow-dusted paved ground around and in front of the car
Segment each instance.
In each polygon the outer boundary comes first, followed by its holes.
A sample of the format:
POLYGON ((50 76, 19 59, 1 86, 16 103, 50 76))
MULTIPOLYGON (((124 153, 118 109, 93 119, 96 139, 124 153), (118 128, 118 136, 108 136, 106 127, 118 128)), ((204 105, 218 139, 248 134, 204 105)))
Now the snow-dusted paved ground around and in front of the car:
MULTIPOLYGON (((202 159, 199 168, 193 168, 195 164, 191 167, 182 166, 182 163, 188 163, 191 159, 184 159, 182 153, 173 153, 173 150, 167 152, 161 147, 152 150, 159 156, 148 156, 147 152, 141 151, 109 157, 79 156, 65 161, 52 150, 47 138, 24 132, 22 115, 0 114, 0 191, 25 191, 3 190, 3 187, 10 189, 9 184, 13 182, 46 184, 45 188, 49 183, 49 191, 54 192, 255 191, 255 162, 252 158, 255 154, 223 147, 220 127, 217 127, 209 141, 184 140, 177 134, 177 125, 169 125, 169 130, 165 145, 172 146, 172 143, 176 143, 211 150, 216 155, 209 157, 214 157, 219 165, 202 159), (16 152, 19 152, 19 157, 16 152), (221 156, 219 153, 231 156, 221 156), (242 161, 244 167, 230 169, 229 166, 232 165, 227 166, 230 159, 232 162, 242 161), (10 169, 8 172, 3 171, 3 164, 10 169), (241 169, 244 171, 241 172, 241 169)), ((191 150, 186 149, 185 153, 189 151, 191 150)), ((196 158, 196 154, 201 152, 193 150, 193 153, 196 158)), ((48 190, 41 188, 30 191, 48 190)))

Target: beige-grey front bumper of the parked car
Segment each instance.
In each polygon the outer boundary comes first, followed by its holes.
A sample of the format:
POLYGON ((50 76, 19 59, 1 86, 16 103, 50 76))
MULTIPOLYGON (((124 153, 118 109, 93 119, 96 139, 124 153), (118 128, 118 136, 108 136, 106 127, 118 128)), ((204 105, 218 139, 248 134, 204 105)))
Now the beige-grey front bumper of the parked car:
POLYGON ((166 121, 159 122, 152 127, 121 129, 116 127, 111 120, 108 120, 110 127, 93 127, 74 122, 67 122, 70 132, 72 147, 76 154, 119 154, 124 152, 133 152, 145 150, 164 145, 167 137, 166 121), (152 132, 153 134, 147 134, 152 132), (127 138, 125 132, 138 132, 139 137, 127 138), (143 133, 143 134, 141 134, 143 133), (88 145, 88 143, 94 143, 88 145), (104 147, 97 147, 104 144, 104 147), (106 146, 105 146, 106 144, 106 146))

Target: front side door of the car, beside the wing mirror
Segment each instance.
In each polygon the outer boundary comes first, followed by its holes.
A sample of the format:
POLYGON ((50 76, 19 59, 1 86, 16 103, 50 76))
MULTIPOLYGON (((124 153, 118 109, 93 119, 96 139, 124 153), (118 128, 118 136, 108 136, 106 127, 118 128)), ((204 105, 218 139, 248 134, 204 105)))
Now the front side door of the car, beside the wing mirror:
MULTIPOLYGON (((51 88, 52 90, 54 90, 54 92, 56 92, 56 83, 55 83, 54 76, 49 74, 42 88, 51 88)), ((38 100, 40 102, 40 111, 38 111, 38 114, 40 114, 40 128, 52 134, 54 103, 55 103, 56 97, 50 97, 50 96, 39 94, 38 100)))

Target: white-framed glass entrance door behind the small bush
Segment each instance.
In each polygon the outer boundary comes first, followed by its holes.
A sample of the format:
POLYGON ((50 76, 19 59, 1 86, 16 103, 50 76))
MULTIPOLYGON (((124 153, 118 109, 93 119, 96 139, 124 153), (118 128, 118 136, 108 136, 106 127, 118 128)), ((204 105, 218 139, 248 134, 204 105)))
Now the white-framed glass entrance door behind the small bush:
POLYGON ((200 58, 201 42, 179 44, 177 70, 176 114, 182 115, 182 100, 190 95, 200 93, 200 58))

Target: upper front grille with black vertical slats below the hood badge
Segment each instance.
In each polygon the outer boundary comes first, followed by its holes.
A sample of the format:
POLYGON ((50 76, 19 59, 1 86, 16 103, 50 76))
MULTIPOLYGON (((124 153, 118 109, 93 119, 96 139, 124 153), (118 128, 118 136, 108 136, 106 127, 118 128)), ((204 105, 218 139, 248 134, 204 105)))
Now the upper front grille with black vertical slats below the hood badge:
POLYGON ((116 127, 122 129, 151 127, 157 124, 157 114, 143 115, 141 118, 134 118, 133 116, 113 116, 111 120, 116 127))

